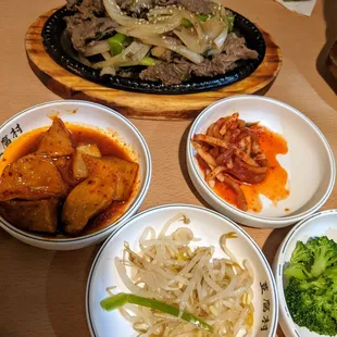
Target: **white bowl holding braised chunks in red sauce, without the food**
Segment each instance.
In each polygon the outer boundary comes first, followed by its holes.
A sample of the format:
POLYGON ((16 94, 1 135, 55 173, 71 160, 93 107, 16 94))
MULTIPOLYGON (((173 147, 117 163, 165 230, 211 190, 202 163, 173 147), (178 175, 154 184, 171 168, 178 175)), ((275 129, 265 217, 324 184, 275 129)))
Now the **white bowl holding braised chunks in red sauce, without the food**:
POLYGON ((139 209, 151 180, 151 157, 139 130, 124 116, 100 104, 66 100, 54 101, 28 108, 0 127, 0 139, 11 138, 11 130, 20 124, 23 133, 51 124, 50 115, 58 113, 64 122, 88 125, 115 132, 114 138, 127 145, 133 160, 139 163, 139 184, 135 197, 125 213, 114 223, 92 234, 74 238, 43 238, 38 234, 21 230, 0 216, 0 226, 18 240, 35 247, 52 250, 72 250, 104 240, 117 226, 127 221, 139 209))

